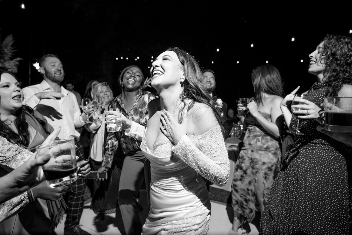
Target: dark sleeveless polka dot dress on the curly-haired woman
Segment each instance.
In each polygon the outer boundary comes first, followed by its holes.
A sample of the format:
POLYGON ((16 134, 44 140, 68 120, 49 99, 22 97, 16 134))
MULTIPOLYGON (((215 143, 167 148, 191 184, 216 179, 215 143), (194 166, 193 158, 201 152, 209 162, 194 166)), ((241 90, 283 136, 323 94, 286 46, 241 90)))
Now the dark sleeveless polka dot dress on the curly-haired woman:
MULTIPOLYGON (((323 103, 326 85, 315 83, 309 101, 323 103)), ((296 116, 291 120, 297 125, 296 116)), ((348 234, 346 146, 318 132, 315 120, 289 145, 261 218, 261 234, 348 234)))

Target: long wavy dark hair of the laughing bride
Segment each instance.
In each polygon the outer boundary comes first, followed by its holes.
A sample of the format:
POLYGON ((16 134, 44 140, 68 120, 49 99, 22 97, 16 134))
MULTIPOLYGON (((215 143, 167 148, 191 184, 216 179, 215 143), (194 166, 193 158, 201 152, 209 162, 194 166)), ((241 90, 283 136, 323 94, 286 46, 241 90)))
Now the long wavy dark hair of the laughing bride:
POLYGON ((187 111, 190 110, 195 103, 206 104, 212 109, 215 118, 219 122, 222 129, 222 133, 224 134, 224 118, 221 116, 221 109, 212 104, 212 97, 206 89, 202 70, 199 68, 196 60, 190 56, 189 53, 178 47, 170 47, 167 51, 173 51, 176 53, 178 60, 182 65, 181 70, 183 71, 185 77, 185 80, 182 83, 183 92, 180 95, 180 100, 183 103, 183 107, 180 109, 180 119, 178 120, 179 123, 182 122, 183 112, 187 107, 186 100, 191 100, 188 104, 187 111))

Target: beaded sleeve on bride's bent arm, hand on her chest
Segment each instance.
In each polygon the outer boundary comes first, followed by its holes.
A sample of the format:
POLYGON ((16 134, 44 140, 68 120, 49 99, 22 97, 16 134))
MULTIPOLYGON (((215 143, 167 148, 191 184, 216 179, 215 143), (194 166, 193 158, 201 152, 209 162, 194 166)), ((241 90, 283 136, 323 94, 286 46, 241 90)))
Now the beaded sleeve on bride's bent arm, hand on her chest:
POLYGON ((230 174, 230 160, 220 126, 199 136, 184 135, 172 151, 212 183, 223 186, 230 174))

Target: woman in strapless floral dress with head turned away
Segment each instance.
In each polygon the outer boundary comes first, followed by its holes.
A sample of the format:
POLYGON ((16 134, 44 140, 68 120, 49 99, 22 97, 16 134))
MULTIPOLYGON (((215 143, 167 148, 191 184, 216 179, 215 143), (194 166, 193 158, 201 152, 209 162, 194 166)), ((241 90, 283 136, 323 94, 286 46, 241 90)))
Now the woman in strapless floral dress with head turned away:
POLYGON ((243 104, 237 108, 237 117, 247 131, 232 181, 232 230, 235 232, 244 220, 254 218, 256 198, 260 214, 263 213, 281 163, 283 80, 275 66, 266 64, 252 71, 252 84, 254 100, 247 108, 243 104))

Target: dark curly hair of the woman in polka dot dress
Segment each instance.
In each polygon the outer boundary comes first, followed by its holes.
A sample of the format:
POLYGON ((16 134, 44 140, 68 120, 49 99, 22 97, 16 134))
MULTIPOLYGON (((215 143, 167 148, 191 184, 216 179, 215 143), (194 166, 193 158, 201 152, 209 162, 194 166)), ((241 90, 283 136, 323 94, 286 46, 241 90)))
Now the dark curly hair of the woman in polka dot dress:
POLYGON ((323 39, 322 57, 325 64, 324 82, 327 96, 337 96, 343 84, 352 84, 352 39, 327 35, 323 39))

